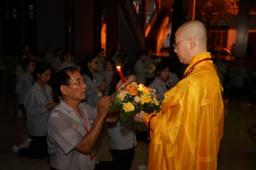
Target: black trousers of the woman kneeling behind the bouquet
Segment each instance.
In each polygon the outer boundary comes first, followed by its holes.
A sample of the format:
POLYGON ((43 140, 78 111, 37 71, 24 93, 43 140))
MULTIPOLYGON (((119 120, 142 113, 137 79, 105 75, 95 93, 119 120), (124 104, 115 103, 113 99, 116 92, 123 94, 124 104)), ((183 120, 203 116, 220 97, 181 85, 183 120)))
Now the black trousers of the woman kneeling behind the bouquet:
POLYGON ((113 156, 113 170, 130 170, 134 158, 134 147, 131 149, 110 149, 113 156))

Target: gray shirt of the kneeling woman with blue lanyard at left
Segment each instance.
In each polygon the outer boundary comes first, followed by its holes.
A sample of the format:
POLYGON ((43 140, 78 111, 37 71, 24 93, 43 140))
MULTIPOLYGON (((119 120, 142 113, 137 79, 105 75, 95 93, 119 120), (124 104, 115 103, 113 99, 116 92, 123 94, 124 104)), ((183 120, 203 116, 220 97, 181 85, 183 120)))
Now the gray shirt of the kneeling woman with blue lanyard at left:
POLYGON ((24 106, 27 113, 27 129, 32 136, 46 136, 46 119, 49 110, 45 106, 53 102, 53 94, 50 85, 45 84, 45 90, 46 93, 35 82, 25 94, 24 106))

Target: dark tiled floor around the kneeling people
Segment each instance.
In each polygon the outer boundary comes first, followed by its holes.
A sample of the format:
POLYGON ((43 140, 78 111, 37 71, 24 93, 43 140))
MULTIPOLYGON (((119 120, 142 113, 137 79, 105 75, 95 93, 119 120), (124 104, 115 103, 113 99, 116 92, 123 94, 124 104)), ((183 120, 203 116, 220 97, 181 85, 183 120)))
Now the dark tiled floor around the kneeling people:
MULTIPOLYGON (((25 118, 16 118, 16 95, 14 93, 15 77, 12 64, 5 63, 7 70, 2 70, 3 78, 0 83, 0 170, 50 170, 49 157, 33 159, 19 157, 11 152, 14 144, 22 143, 27 137, 25 118), (13 113, 10 113, 10 109, 13 113)), ((256 170, 256 156, 248 154, 256 150, 248 136, 249 126, 256 124, 256 103, 248 104, 247 97, 234 99, 226 97, 224 136, 220 143, 218 155, 218 170, 256 170)), ((108 144, 109 138, 104 124, 99 140, 96 143, 98 160, 111 160, 108 144)), ((146 131, 144 124, 134 122, 134 129, 146 131)), ((146 157, 147 143, 138 142, 131 170, 138 170, 146 157)))

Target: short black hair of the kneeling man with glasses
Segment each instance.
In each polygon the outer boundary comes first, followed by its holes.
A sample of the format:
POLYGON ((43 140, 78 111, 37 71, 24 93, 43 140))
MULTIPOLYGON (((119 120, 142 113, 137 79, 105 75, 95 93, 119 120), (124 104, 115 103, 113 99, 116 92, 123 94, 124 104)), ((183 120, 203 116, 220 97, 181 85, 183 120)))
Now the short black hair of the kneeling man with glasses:
POLYGON ((71 80, 70 76, 68 73, 73 73, 77 72, 76 68, 74 67, 66 67, 56 73, 53 78, 53 89, 58 92, 59 94, 62 94, 61 92, 61 86, 62 85, 68 85, 69 80, 71 80))

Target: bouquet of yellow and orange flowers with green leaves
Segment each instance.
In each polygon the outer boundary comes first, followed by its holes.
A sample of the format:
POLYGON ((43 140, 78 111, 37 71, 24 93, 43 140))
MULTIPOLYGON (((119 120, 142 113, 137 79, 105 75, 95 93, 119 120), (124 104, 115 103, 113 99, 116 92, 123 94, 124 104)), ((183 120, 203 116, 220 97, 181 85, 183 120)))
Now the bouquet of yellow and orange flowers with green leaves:
POLYGON ((126 121, 127 118, 134 116, 141 110, 145 112, 160 110, 159 101, 156 97, 156 89, 137 83, 125 84, 109 110, 119 110, 121 120, 126 121))

